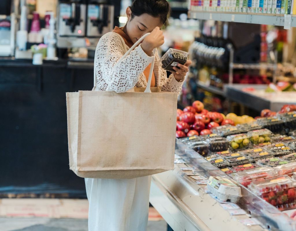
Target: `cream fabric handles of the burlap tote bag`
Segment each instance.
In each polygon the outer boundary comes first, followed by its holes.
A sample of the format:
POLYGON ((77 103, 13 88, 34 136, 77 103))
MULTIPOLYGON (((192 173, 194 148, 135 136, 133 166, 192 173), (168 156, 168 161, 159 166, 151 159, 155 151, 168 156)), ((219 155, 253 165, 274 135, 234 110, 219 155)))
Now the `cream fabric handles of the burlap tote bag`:
MULTIPOLYGON (((133 46, 132 46, 128 51, 127 51, 127 49, 126 49, 126 43, 124 42, 123 38, 122 38, 120 35, 118 35, 118 36, 120 37, 121 42, 123 43, 124 51, 126 52, 126 53, 125 53, 125 54, 119 59, 118 62, 120 62, 122 59, 124 59, 126 56, 128 56, 128 55, 131 53, 131 51, 132 51, 133 49, 135 49, 135 47, 138 46, 139 43, 140 43, 142 40, 144 40, 144 38, 146 38, 146 36, 149 35, 149 34, 150 34, 150 33, 144 34, 144 35, 143 35, 138 41, 136 41, 135 44, 133 44, 133 46)), ((153 60, 152 60, 151 67, 150 67, 150 72, 149 72, 149 78, 148 78, 148 81, 147 81, 147 86, 146 86, 146 89, 145 89, 144 92, 150 92, 150 93, 151 93, 150 85, 151 85, 152 74, 153 74, 153 69, 154 69, 155 52, 156 52, 156 48, 154 48, 153 51, 152 51, 152 54, 153 54, 153 60)), ((97 81, 97 79, 96 79, 96 56, 97 56, 97 49, 96 49, 95 57, 94 57, 94 87, 93 87, 92 91, 95 91, 95 88, 96 88, 96 81, 97 81)), ((106 91, 112 91, 112 90, 110 89, 109 84, 108 84, 108 86, 107 86, 106 91)))

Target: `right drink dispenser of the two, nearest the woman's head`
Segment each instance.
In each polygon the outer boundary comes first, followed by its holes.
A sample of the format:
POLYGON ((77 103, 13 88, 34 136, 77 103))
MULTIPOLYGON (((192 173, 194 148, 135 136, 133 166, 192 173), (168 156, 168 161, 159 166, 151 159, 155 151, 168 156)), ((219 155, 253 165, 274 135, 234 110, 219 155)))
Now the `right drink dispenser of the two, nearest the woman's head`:
POLYGON ((87 37, 102 37, 113 29, 114 7, 91 1, 87 6, 87 37))

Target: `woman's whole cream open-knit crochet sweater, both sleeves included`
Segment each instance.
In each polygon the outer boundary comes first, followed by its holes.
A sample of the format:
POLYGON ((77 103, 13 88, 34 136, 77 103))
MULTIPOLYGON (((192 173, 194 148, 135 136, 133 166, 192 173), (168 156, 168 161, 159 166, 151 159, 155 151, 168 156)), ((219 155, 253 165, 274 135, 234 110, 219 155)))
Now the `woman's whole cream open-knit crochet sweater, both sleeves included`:
MULTIPOLYGON (((112 91, 126 92, 133 87, 146 87, 147 80, 143 71, 152 62, 153 57, 148 56, 141 46, 137 46, 125 59, 119 59, 124 55, 123 43, 115 32, 109 32, 100 38, 96 47, 95 75, 97 78, 97 90, 106 91, 107 84, 112 91)), ((126 45, 125 45, 126 46, 126 45)), ((128 46, 127 50, 129 49, 128 46)), ((156 52, 157 53, 157 52, 156 52)), ((166 71, 158 64, 159 56, 156 54, 154 64, 155 85, 162 91, 181 91, 184 78, 178 82, 174 75, 167 78, 166 71)))

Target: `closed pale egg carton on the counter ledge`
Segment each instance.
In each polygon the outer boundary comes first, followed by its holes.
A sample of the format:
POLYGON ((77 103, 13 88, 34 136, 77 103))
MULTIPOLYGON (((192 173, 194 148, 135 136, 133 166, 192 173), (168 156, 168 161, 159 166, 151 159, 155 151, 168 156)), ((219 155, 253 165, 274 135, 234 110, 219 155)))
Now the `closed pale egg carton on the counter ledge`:
POLYGON ((232 203, 237 203, 242 197, 241 188, 226 178, 210 176, 207 188, 221 201, 230 200, 232 203))

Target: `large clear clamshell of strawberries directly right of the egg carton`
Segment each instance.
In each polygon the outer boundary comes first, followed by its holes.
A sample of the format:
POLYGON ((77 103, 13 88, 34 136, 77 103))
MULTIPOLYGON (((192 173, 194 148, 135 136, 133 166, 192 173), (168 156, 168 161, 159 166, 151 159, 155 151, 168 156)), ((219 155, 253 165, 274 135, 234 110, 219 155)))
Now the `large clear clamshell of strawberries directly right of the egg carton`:
POLYGON ((288 209, 295 203, 296 181, 289 176, 267 178, 263 182, 252 182, 250 190, 279 209, 288 209))

